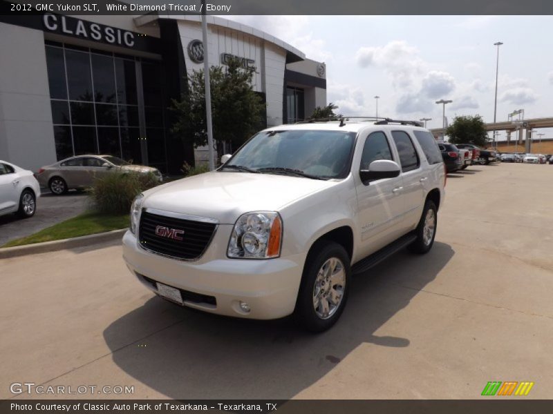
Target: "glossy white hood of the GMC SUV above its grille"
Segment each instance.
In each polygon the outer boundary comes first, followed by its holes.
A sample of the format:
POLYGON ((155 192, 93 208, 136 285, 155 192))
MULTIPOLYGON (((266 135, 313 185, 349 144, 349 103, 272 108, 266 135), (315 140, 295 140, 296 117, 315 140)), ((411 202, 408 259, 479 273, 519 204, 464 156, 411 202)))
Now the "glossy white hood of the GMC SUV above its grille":
POLYGON ((234 224, 250 211, 279 211, 293 201, 339 184, 303 177, 251 172, 206 172, 144 193, 142 206, 234 224))

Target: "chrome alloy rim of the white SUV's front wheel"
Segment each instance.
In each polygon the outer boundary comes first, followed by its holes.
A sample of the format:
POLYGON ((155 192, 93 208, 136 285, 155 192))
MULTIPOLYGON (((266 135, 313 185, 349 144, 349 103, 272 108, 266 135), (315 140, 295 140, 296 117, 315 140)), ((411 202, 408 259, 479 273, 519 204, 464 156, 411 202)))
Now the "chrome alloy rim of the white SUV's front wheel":
POLYGON ((328 319, 336 313, 345 287, 344 264, 337 257, 330 257, 319 269, 313 286, 313 308, 319 318, 328 319))

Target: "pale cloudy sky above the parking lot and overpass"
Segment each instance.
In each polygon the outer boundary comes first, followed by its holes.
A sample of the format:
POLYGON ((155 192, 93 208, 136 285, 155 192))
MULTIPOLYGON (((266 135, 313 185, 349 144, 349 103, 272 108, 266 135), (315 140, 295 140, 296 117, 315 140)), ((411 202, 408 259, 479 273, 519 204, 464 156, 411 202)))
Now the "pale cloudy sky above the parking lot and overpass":
MULTIPOLYGON (((326 63, 327 101, 342 115, 494 120, 553 117, 552 16, 230 16, 326 63), (517 116, 518 117, 518 116, 517 116)), ((536 131, 540 132, 540 131, 536 131)), ((544 138, 553 137, 545 129, 544 138)), ((499 139, 505 139, 501 132, 499 139)))

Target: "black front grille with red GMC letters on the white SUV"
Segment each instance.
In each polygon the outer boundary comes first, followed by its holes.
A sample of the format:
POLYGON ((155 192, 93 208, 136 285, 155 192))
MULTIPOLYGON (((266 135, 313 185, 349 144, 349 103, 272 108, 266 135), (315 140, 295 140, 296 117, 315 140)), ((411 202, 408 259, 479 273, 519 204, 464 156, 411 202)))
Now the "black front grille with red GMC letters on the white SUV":
POLYGON ((139 229, 140 246, 160 255, 194 260, 203 255, 209 246, 215 228, 216 224, 213 223, 178 219, 142 211, 139 229), (182 240, 156 234, 158 226, 167 228, 169 231, 177 230, 178 237, 182 240), (180 231, 184 233, 180 233, 180 231))

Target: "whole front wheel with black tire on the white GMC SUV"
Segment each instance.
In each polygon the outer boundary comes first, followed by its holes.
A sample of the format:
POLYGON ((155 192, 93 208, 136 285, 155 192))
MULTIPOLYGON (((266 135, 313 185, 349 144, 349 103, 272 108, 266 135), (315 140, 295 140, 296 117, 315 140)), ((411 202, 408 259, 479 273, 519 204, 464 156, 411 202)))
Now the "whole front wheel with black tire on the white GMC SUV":
POLYGON ((350 257, 346 249, 335 242, 320 242, 313 249, 303 269, 295 313, 299 322, 308 331, 323 332, 337 322, 346 306, 351 278, 350 257), (332 262, 332 259, 337 262, 332 262), (336 266, 332 270, 334 263, 336 266), (329 284, 330 275, 324 271, 325 266, 330 272, 336 272, 336 280, 342 280, 343 276, 341 285, 329 284), (339 270, 340 266, 343 273, 339 270), (336 296, 337 304, 326 299, 336 294, 338 294, 336 296), (320 295, 317 310, 314 304, 316 295, 318 297, 320 295), (328 311, 325 311, 324 302, 326 302, 328 311), (327 316, 323 317, 321 313, 326 313, 327 316))

